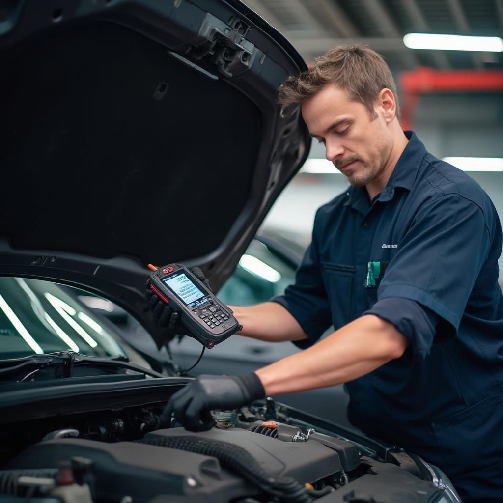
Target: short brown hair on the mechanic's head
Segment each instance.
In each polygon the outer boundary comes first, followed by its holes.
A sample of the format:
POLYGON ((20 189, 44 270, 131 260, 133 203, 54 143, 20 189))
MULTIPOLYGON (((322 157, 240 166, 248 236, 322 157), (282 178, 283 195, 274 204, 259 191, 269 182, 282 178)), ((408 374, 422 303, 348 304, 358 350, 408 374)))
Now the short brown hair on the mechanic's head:
POLYGON ((288 77, 279 89, 278 102, 284 107, 300 105, 326 84, 335 83, 353 101, 362 103, 371 118, 374 103, 387 88, 395 97, 396 117, 400 108, 396 86, 384 58, 365 45, 340 45, 315 59, 309 70, 288 77))

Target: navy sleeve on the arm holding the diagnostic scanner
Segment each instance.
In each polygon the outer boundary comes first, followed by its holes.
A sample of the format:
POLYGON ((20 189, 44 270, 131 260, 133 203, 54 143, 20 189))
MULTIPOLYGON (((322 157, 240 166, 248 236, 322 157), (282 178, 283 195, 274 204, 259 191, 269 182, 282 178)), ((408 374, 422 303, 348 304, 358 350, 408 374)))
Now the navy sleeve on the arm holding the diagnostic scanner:
POLYGON ((330 302, 321 277, 318 250, 313 232, 311 244, 295 274, 295 283, 286 288, 284 295, 271 299, 287 309, 306 333, 307 340, 293 341, 301 349, 314 344, 332 323, 330 302))

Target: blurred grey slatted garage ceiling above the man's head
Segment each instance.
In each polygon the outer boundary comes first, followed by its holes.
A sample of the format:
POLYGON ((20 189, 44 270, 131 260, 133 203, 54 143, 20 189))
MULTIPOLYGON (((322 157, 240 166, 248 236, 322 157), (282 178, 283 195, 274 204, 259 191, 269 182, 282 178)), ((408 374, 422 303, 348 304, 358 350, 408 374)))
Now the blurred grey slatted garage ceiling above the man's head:
POLYGON ((502 68, 503 53, 413 50, 410 32, 503 35, 503 0, 244 0, 307 61, 338 44, 364 43, 394 71, 502 68))

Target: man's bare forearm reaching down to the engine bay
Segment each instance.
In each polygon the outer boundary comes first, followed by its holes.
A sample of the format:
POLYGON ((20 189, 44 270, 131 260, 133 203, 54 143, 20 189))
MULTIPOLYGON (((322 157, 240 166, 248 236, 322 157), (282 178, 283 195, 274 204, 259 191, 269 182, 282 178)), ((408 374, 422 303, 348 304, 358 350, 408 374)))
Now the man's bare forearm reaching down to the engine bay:
POLYGON ((391 323, 366 315, 256 374, 268 395, 333 386, 399 358, 407 345, 407 339, 391 323))

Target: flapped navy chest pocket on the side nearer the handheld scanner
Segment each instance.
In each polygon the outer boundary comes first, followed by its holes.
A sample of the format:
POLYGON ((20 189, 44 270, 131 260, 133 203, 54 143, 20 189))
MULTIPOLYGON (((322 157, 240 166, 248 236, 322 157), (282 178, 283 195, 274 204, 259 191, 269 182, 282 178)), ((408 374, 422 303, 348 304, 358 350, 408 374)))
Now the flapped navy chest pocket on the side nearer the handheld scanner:
POLYGON ((335 262, 321 262, 323 282, 330 301, 334 329, 350 321, 355 267, 335 262))

